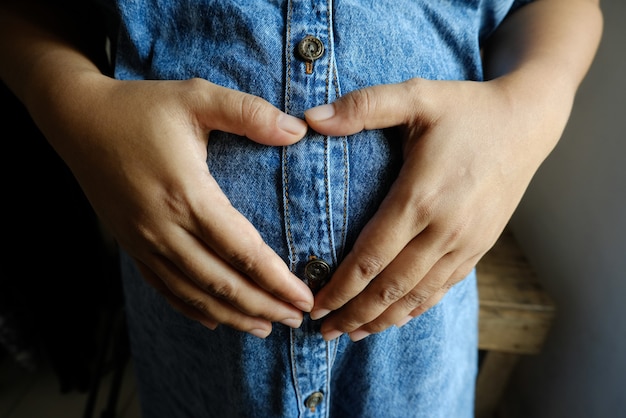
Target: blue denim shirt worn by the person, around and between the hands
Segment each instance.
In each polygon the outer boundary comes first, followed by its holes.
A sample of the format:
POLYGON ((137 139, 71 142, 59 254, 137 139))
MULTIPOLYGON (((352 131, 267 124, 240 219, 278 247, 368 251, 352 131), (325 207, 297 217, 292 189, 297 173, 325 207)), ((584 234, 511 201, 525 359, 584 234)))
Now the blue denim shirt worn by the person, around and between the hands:
MULTIPOLYGON (((115 1, 115 0, 111 0, 115 1)), ((484 39, 513 0, 117 0, 121 79, 202 77, 286 112, 407 80, 481 80, 484 39), (305 71, 306 35, 324 55, 305 71)), ((514 4, 515 3, 515 4, 514 4)), ((213 133, 208 169, 233 205, 302 277, 311 256, 335 268, 395 178, 393 130, 288 147, 213 133), (254 179, 254 181, 250 181, 254 179)), ((131 343, 147 418, 473 416, 474 274, 406 326, 353 343, 319 323, 280 324, 266 340, 211 332, 173 311, 123 257, 131 343), (323 394, 314 409, 305 406, 323 394)))

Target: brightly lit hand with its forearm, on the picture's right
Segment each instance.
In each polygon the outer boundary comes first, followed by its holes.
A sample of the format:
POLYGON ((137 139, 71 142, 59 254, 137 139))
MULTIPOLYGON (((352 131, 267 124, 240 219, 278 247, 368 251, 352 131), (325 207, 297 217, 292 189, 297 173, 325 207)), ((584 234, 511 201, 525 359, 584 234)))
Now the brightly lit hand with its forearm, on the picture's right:
POLYGON ((598 3, 537 0, 512 13, 483 50, 490 81, 414 79, 305 113, 326 135, 405 135, 398 179, 316 295, 324 338, 403 325, 493 245, 567 123, 600 41, 598 3))

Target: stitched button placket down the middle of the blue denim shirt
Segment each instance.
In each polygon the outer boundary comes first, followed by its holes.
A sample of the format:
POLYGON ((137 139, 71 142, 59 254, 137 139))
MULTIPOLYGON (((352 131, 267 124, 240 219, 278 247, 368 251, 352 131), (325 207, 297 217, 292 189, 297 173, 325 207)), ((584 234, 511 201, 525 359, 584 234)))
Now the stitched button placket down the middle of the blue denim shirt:
MULTIPOLYGON (((303 117, 308 108, 339 96, 333 58, 332 4, 288 1, 285 111, 303 117)), ((291 270, 313 292, 330 278, 345 241, 348 198, 346 138, 311 130, 283 148, 285 229, 291 270)), ((326 342, 319 321, 308 316, 290 334, 290 360, 301 417, 327 417, 336 342, 326 342)))

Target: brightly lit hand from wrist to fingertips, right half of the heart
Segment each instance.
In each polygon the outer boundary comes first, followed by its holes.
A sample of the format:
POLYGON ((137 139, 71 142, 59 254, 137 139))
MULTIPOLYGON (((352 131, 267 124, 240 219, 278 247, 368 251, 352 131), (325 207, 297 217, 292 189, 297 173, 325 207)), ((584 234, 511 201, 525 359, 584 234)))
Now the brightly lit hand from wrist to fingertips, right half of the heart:
POLYGON ((548 153, 532 144, 554 136, 556 125, 539 123, 533 104, 508 91, 501 79, 413 79, 305 113, 324 135, 393 126, 404 133, 398 178, 316 296, 311 316, 326 316, 325 339, 349 333, 356 341, 405 324, 493 246, 548 153))

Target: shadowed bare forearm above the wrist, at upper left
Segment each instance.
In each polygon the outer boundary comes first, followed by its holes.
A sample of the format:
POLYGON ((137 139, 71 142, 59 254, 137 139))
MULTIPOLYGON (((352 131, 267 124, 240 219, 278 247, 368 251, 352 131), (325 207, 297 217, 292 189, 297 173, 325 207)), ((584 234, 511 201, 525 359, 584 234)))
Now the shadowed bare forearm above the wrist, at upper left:
POLYGON ((81 152, 93 146, 85 132, 99 118, 98 86, 112 81, 98 65, 105 58, 104 31, 83 9, 72 15, 32 1, 15 3, 0 6, 0 78, 75 170, 81 152))

